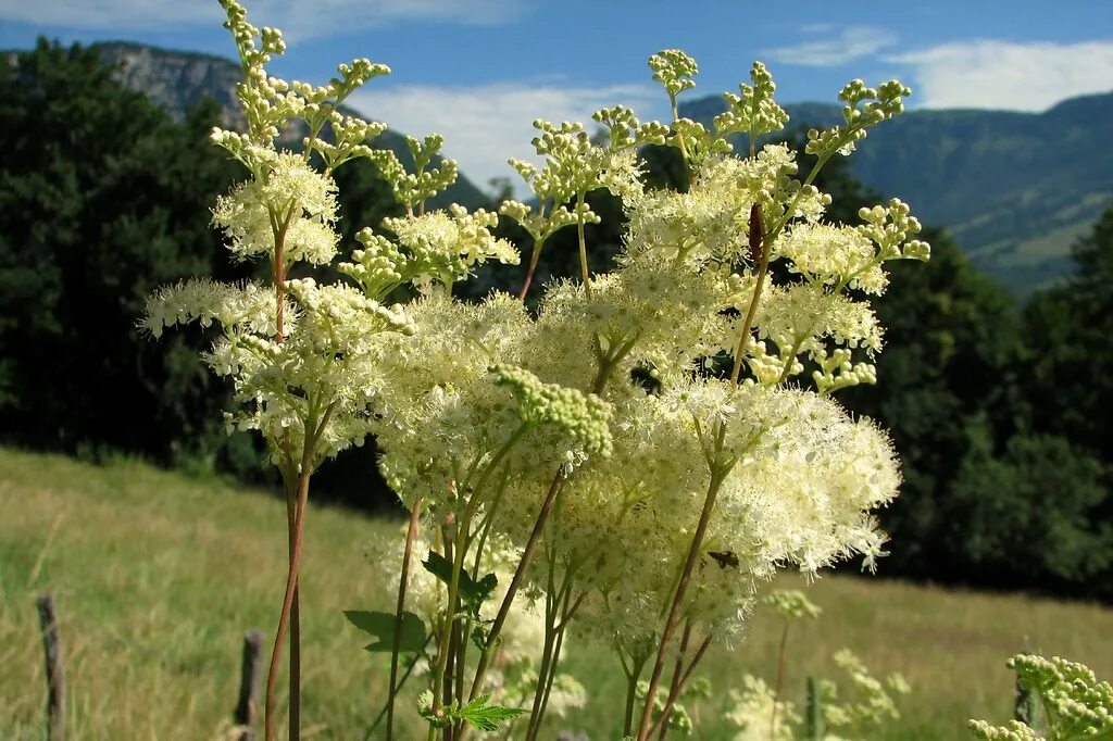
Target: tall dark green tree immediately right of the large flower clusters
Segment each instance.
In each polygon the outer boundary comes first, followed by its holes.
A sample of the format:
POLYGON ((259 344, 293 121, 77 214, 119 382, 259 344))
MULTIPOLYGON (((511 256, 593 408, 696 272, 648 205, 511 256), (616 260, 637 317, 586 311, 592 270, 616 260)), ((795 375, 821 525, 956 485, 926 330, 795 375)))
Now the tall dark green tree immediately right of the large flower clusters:
POLYGON ((1013 385, 1017 316, 1005 290, 949 238, 925 231, 930 261, 915 270, 896 264, 893 289, 876 303, 886 327, 878 385, 843 399, 886 426, 902 458, 905 483, 884 514, 892 535, 885 570, 965 580, 974 574, 947 539, 947 500, 972 438, 987 436, 992 456, 1023 416, 1013 385))

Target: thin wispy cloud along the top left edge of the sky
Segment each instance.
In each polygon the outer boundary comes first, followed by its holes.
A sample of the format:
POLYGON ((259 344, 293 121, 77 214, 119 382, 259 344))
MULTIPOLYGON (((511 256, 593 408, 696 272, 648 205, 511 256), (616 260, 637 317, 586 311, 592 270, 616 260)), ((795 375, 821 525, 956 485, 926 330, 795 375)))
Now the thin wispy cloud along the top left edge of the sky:
MULTIPOLYGON (((283 29, 296 42, 339 29, 404 21, 501 23, 516 19, 523 6, 524 0, 254 0, 248 18, 257 26, 283 29)), ((0 0, 0 19, 91 31, 219 27, 223 18, 224 11, 211 0, 0 0)))

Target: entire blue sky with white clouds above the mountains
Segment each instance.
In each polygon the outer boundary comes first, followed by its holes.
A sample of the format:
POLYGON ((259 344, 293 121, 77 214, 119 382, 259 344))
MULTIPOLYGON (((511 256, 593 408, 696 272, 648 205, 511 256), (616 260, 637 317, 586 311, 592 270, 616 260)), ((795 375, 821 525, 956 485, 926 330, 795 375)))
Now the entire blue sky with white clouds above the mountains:
MULTIPOLYGON (((528 157, 534 118, 587 120, 631 105, 667 113, 646 58, 681 48, 700 65, 689 96, 736 90, 766 61, 785 102, 834 100, 848 79, 899 77, 913 108, 1038 111, 1113 89, 1109 0, 248 0, 250 20, 286 32, 273 66, 327 79, 339 61, 390 65, 354 98, 371 118, 446 136, 445 151, 482 185, 528 157)), ((216 0, 0 0, 0 48, 36 36, 126 39, 230 56, 216 0)))

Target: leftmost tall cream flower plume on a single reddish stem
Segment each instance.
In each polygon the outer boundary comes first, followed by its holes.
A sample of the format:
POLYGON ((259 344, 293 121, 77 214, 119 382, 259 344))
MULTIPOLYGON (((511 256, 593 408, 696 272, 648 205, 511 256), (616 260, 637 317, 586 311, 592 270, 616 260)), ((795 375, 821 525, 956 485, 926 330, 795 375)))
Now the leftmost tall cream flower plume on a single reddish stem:
POLYGON ((342 65, 338 77, 324 87, 270 77, 266 63, 285 51, 282 33, 248 23, 236 0, 221 4, 244 68, 236 95, 247 130, 215 129, 213 140, 239 159, 249 177, 217 199, 213 224, 237 258, 269 261, 274 287, 268 292, 257 284, 220 286, 200 279, 162 288, 148 302, 144 325, 157 336, 170 324, 219 323, 223 334, 205 358, 233 379, 240 407, 226 419, 229 426, 259 431, 284 475, 296 478, 363 443, 381 381, 371 364, 373 338, 413 332, 401 306, 384 305, 385 294, 287 279, 297 263, 327 265, 336 256, 332 171, 371 151, 351 137, 382 131, 352 117, 337 121, 336 108, 364 81, 388 70, 356 60, 342 65), (318 144, 317 135, 329 121, 341 131, 333 142, 318 144), (278 148, 278 134, 295 124, 311 132, 305 149, 278 148), (322 154, 323 170, 312 152, 322 154))

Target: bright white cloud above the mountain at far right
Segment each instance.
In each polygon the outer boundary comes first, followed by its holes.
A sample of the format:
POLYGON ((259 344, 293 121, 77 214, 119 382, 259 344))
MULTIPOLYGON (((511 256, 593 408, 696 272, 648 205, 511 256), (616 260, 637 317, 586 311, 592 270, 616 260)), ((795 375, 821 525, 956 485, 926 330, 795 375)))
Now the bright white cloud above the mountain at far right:
POLYGON ((893 57, 910 65, 918 108, 1042 111, 1113 89, 1113 41, 945 43, 893 57))

